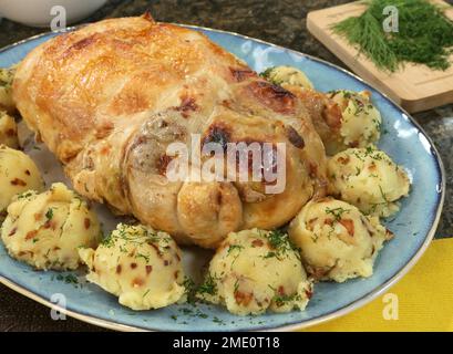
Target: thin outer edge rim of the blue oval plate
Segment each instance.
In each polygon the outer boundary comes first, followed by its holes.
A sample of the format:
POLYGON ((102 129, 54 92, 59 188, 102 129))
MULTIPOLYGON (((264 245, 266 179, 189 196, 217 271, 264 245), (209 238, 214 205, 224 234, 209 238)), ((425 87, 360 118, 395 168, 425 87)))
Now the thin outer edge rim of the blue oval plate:
MULTIPOLYGON (((363 295, 362 298, 360 298, 360 299, 344 305, 341 309, 332 311, 331 313, 327 313, 327 314, 320 315, 318 317, 307 320, 307 321, 302 321, 302 322, 298 322, 298 323, 262 327, 262 329, 258 329, 258 330, 255 330, 255 331, 260 331, 260 332, 297 331, 297 330, 307 329, 309 326, 318 325, 318 324, 321 324, 321 323, 326 323, 326 322, 334 320, 334 319, 339 319, 339 317, 341 317, 341 316, 343 316, 343 315, 346 315, 348 313, 351 313, 351 312, 364 306, 366 304, 370 303, 371 301, 377 299, 379 295, 384 293, 387 290, 389 290, 391 287, 393 287, 397 282, 399 282, 416 264, 416 262, 420 260, 420 258, 423 256, 423 253, 426 251, 428 247, 430 246, 431 241, 433 240, 434 233, 435 233, 435 231, 437 229, 439 221, 440 221, 440 218, 441 218, 441 215, 442 215, 442 209, 443 209, 444 199, 445 199, 445 188, 446 188, 446 178, 445 178, 445 176, 446 175, 445 175, 445 169, 444 169, 444 165, 443 165, 443 162, 442 162, 442 157, 439 154, 439 150, 437 150, 434 142, 426 134, 426 132, 423 129, 423 127, 412 117, 412 115, 410 113, 408 113, 404 108, 402 108, 397 102, 394 102, 392 98, 390 98, 385 93, 378 90, 375 86, 373 86, 372 84, 370 84, 366 80, 361 79, 357 74, 350 72, 349 70, 347 70, 344 67, 341 67, 341 66, 339 66, 337 64, 330 63, 330 62, 328 62, 328 61, 326 61, 323 59, 313 56, 311 54, 306 54, 306 53, 302 53, 302 52, 299 52, 299 51, 296 51, 296 50, 292 50, 292 49, 288 49, 288 48, 285 48, 282 45, 274 44, 274 43, 260 40, 260 39, 256 39, 256 38, 253 38, 253 37, 249 37, 249 35, 240 34, 240 33, 237 33, 237 32, 212 29, 212 28, 196 25, 196 24, 184 24, 184 23, 175 23, 175 22, 167 22, 167 23, 184 27, 184 28, 188 28, 188 29, 194 29, 194 30, 204 30, 204 31, 210 31, 210 32, 228 34, 228 35, 241 38, 244 40, 254 41, 254 42, 257 42, 257 43, 260 43, 260 44, 268 45, 270 48, 276 48, 276 49, 279 49, 279 50, 282 50, 282 51, 286 51, 286 52, 295 53, 297 55, 302 55, 302 56, 308 58, 308 59, 310 59, 312 61, 316 61, 316 62, 323 63, 325 65, 333 67, 333 69, 336 69, 336 70, 338 70, 338 71, 340 71, 340 72, 356 79, 360 83, 362 83, 362 84, 373 88, 374 91, 379 92, 379 94, 381 94, 388 102, 390 102, 394 107, 397 107, 399 111, 401 111, 403 114, 405 114, 405 116, 409 118, 410 123, 413 124, 420 131, 420 133, 423 134, 424 138, 430 143, 430 147, 432 148, 432 152, 433 152, 432 155, 433 155, 433 157, 435 159, 435 163, 437 164, 437 167, 439 167, 439 177, 440 177, 441 191, 440 191, 440 196, 437 197, 437 206, 436 206, 435 215, 434 215, 434 218, 433 218, 433 223, 432 223, 429 232, 426 233, 426 237, 423 240, 423 243, 416 250, 414 256, 393 277, 388 279, 381 285, 379 285, 374 290, 370 291, 368 294, 363 295)), ((11 50, 11 49, 16 48, 16 46, 19 46, 21 44, 28 43, 30 41, 33 41, 33 40, 50 35, 50 34, 62 34, 62 33, 65 33, 65 32, 71 32, 71 31, 78 30, 78 29, 80 29, 82 27, 85 27, 86 24, 89 24, 89 23, 83 23, 83 24, 69 27, 69 28, 58 30, 58 31, 48 31, 48 32, 43 32, 43 33, 32 35, 32 37, 29 37, 27 39, 20 40, 18 42, 14 42, 14 43, 11 43, 9 45, 6 45, 6 46, 1 48, 0 53, 3 53, 6 51, 8 51, 8 50, 11 50)), ((123 331, 123 332, 155 332, 155 331, 158 331, 156 329, 146 329, 146 327, 140 327, 140 326, 122 324, 122 323, 117 323, 117 322, 114 322, 114 321, 103 320, 103 319, 96 317, 94 315, 82 314, 82 313, 79 313, 76 311, 72 311, 72 310, 61 308, 61 306, 48 301, 47 299, 42 298, 41 295, 38 295, 33 291, 28 290, 28 289, 17 284, 17 283, 14 283, 10 279, 8 279, 8 278, 6 278, 6 277, 3 277, 1 274, 0 274, 0 283, 2 283, 7 288, 16 291, 17 293, 20 293, 20 294, 22 294, 22 295, 38 302, 38 303, 41 303, 41 304, 50 308, 50 309, 54 309, 54 310, 56 310, 56 311, 59 311, 59 312, 61 312, 61 313, 63 313, 65 315, 74 317, 74 319, 76 319, 79 321, 83 321, 83 322, 86 322, 86 323, 90 323, 90 324, 93 324, 93 325, 96 325, 96 326, 100 326, 100 327, 114 330, 114 331, 123 331)), ((247 330, 243 330, 243 331, 247 331, 247 330)))

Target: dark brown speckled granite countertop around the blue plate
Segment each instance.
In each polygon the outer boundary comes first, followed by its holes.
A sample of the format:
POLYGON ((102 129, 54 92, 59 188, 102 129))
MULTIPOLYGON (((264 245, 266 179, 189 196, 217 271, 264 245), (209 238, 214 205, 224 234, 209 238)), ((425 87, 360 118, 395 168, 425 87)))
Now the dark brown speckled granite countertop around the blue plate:
MULTIPOLYGON (((238 32, 301 51, 344 66, 306 30, 308 11, 346 3, 344 0, 109 0, 83 22, 136 15, 150 10, 158 21, 179 22, 238 32)), ((449 1, 452 2, 451 0, 449 1)), ((0 48, 47 31, 3 19, 0 48)), ((436 238, 453 237, 453 105, 419 113, 415 119, 434 140, 446 173, 445 206, 436 238)), ((0 331, 96 331, 68 317, 52 321, 50 310, 0 285, 0 331)))

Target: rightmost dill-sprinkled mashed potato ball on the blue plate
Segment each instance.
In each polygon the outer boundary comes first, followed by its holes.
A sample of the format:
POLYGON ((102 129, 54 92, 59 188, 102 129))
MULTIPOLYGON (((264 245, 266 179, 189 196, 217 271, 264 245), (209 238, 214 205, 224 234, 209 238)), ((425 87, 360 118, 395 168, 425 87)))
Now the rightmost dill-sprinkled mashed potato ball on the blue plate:
POLYGON ((333 194, 364 214, 388 217, 398 211, 395 201, 409 194, 405 171, 372 146, 334 155, 329 159, 328 174, 333 194))

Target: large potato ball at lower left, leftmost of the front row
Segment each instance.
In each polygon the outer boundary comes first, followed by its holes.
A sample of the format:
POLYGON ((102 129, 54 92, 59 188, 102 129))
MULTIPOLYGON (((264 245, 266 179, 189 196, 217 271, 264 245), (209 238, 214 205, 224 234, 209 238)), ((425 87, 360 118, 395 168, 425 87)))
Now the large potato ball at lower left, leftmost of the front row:
POLYGON ((76 269, 78 248, 95 247, 100 235, 95 214, 63 184, 17 196, 1 229, 11 257, 44 270, 76 269))

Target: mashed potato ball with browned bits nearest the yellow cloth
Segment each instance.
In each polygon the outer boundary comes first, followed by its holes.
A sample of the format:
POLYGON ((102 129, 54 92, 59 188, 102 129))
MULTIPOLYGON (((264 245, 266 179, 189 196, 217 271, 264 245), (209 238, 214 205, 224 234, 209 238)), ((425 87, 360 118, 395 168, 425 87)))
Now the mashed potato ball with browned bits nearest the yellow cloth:
POLYGON ((390 231, 341 200, 309 201, 289 226, 307 271, 319 280, 343 282, 370 277, 390 231))

